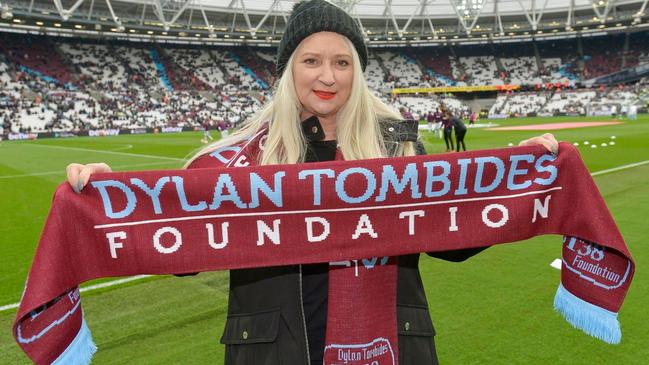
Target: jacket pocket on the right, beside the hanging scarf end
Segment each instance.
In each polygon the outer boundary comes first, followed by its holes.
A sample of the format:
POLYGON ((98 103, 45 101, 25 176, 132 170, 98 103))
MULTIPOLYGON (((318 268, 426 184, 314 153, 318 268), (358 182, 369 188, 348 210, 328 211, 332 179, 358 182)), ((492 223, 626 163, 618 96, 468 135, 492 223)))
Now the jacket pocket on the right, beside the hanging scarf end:
POLYGON ((438 364, 435 327, 428 307, 397 304, 399 364, 438 364))

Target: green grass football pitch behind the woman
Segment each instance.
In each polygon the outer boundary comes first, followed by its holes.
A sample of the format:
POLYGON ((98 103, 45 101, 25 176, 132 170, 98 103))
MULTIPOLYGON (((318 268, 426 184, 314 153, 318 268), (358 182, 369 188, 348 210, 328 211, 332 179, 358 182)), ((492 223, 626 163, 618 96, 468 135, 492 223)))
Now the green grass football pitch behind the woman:
MULTIPOLYGON (((515 126, 610 119, 492 122, 515 126)), ((443 364, 649 363, 649 116, 621 121, 552 132, 559 140, 579 144, 636 261, 635 279, 619 315, 622 343, 591 338, 553 311, 560 272, 550 263, 561 254, 561 238, 544 236, 526 245, 492 247, 464 263, 422 257, 443 364)), ((472 128, 466 143, 472 150, 500 148, 541 133, 472 128)), ((0 142, 0 307, 20 299, 52 194, 64 181, 68 163, 103 161, 117 171, 179 168, 200 148, 200 138, 200 133, 187 132, 0 142)), ((422 138, 428 152, 445 150, 431 133, 422 132, 422 138)), ((86 319, 99 347, 93 363, 222 363, 227 276, 148 277, 83 293, 86 319)), ((0 310, 0 364, 29 363, 11 335, 15 314, 16 309, 0 310)))

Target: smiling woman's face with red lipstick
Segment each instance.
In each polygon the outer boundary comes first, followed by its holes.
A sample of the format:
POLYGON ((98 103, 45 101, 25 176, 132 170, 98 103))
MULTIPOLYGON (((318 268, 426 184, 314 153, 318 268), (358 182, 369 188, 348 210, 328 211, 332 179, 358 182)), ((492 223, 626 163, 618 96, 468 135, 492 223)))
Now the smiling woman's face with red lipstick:
POLYGON ((335 117, 349 99, 352 53, 346 38, 338 33, 319 32, 305 38, 295 50, 292 71, 303 119, 335 117))

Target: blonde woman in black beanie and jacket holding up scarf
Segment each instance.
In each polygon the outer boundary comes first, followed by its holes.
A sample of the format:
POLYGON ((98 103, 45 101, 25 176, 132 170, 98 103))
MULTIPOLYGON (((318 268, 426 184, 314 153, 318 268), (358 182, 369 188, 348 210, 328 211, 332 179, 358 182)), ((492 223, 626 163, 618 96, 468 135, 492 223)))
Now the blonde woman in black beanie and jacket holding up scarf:
MULTIPOLYGON (((224 150, 254 150, 248 156, 256 156, 252 163, 261 165, 421 152, 416 123, 399 122, 399 113, 368 89, 363 76, 367 61, 364 36, 347 13, 323 0, 297 4, 278 49, 272 101, 242 129, 201 150, 186 167, 222 166, 214 156, 224 150)), ((557 148, 551 135, 523 144, 557 148)), ((71 164, 68 181, 79 191, 91 174, 108 171, 105 164, 71 164)), ((443 252, 436 257, 461 261, 476 252, 443 252)), ((437 363, 418 261, 418 254, 399 258, 398 326, 404 328, 407 320, 418 329, 399 334, 401 364, 437 363)), ((323 263, 232 270, 228 320, 221 338, 225 362, 322 364, 328 267, 323 263), (281 320, 275 321, 278 308, 281 320)))

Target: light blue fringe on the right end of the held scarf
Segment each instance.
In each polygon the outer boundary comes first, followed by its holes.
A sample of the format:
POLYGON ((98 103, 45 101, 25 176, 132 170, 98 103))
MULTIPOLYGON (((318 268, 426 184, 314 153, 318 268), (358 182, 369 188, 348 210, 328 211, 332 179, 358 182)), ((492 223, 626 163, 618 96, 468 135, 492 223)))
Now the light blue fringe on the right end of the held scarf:
POLYGON ((622 339, 617 313, 576 297, 562 284, 554 296, 554 309, 575 328, 606 343, 619 344, 622 339))

